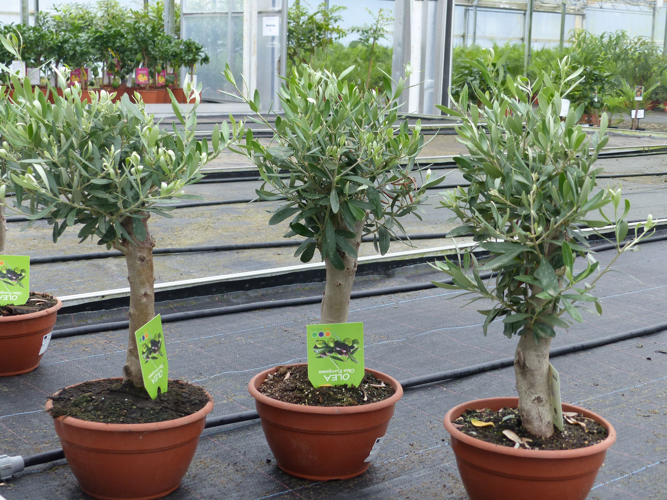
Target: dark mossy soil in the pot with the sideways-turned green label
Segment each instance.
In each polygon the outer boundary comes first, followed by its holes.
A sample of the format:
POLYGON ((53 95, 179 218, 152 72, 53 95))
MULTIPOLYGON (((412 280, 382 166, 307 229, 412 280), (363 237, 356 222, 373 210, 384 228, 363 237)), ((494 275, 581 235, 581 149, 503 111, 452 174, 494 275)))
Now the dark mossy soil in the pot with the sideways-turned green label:
POLYGON ((102 379, 84 382, 52 396, 51 417, 62 415, 103 423, 163 422, 191 415, 208 403, 201 387, 170 380, 167 392, 151 399, 132 383, 102 379))

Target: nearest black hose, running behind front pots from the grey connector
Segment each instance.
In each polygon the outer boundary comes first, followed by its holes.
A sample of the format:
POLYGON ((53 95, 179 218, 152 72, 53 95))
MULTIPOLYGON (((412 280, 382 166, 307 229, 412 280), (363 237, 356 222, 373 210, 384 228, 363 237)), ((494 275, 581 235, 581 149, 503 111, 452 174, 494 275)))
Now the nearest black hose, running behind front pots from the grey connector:
MULTIPOLYGON (((607 337, 600 337, 598 339, 589 341, 563 345, 561 347, 554 347, 554 349, 550 349, 549 357, 554 358, 579 351, 586 351, 586 349, 594 349, 595 347, 602 347, 603 345, 609 345, 624 340, 634 339, 636 337, 643 337, 644 335, 652 335, 653 333, 658 333, 666 329, 667 323, 658 323, 658 325, 642 327, 636 330, 626 331, 624 333, 616 333, 615 335, 608 335, 607 337)), ((412 389, 420 385, 442 382, 446 380, 461 379, 463 377, 469 377, 470 375, 476 375, 477 373, 484 373, 486 371, 492 371, 499 368, 506 368, 512 365, 514 365, 514 358, 506 357, 503 359, 496 359, 496 361, 488 361, 487 363, 480 363, 478 365, 472 365, 464 368, 456 368, 454 370, 431 373, 430 375, 422 375, 421 377, 412 377, 412 379, 400 380, 398 383, 402 385, 403 389, 412 389)), ((208 429, 210 427, 218 427, 220 425, 229 425, 231 423, 239 423, 256 419, 259 419, 259 414, 257 411, 241 411, 239 413, 221 415, 220 417, 209 417, 206 419, 204 428, 208 429)), ((63 453, 63 449, 59 448, 53 451, 37 453, 37 455, 25 457, 23 459, 23 463, 25 467, 30 467, 31 465, 40 465, 42 463, 48 463, 63 458, 65 458, 65 454, 63 453)))

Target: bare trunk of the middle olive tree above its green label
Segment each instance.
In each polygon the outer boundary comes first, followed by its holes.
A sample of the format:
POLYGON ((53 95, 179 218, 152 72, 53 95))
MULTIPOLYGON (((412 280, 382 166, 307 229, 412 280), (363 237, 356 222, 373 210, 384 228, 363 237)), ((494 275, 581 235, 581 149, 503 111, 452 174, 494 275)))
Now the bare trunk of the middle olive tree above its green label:
MULTIPOLYGON (((350 245, 355 250, 359 250, 362 243, 362 231, 364 221, 356 223, 354 226, 354 239, 348 239, 350 245)), ((348 313, 350 312, 350 293, 354 284, 354 276, 357 273, 357 258, 350 257, 347 253, 338 252, 345 269, 339 271, 331 265, 329 258, 324 259, 327 281, 324 287, 324 297, 322 298, 321 323, 347 323, 348 313)))

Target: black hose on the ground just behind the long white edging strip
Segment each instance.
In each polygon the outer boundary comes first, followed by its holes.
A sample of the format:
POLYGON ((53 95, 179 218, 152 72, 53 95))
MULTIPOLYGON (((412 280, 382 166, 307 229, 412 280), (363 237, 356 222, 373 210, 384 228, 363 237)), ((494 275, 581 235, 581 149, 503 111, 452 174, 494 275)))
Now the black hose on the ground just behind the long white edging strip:
MULTIPOLYGON (((408 235, 411 240, 416 239, 440 239, 446 238, 447 233, 415 233, 408 235)), ((405 237, 392 238, 392 241, 406 241, 405 237)), ((364 243, 373 241, 372 237, 362 238, 364 243)), ((298 247, 303 243, 301 239, 290 239, 285 241, 258 241, 257 243, 229 243, 227 245, 202 245, 200 247, 166 247, 153 249, 153 255, 163 255, 167 253, 195 253, 195 252, 220 252, 232 250, 249 250, 261 248, 283 248, 298 247)), ((69 262, 69 261, 87 261, 91 259, 107 259, 109 257, 123 257, 119 251, 92 252, 92 253, 73 253, 71 255, 53 255, 53 257, 32 257, 30 263, 45 264, 51 262, 69 262)))

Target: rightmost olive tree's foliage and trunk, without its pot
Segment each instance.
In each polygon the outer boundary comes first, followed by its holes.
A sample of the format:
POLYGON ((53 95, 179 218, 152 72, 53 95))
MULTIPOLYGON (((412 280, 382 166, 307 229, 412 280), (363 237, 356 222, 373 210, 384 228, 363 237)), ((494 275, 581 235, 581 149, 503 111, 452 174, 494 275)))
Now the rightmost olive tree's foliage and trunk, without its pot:
POLYGON ((590 136, 576 125, 583 105, 561 121, 561 98, 578 72, 569 74, 561 63, 561 83, 554 85, 546 73, 536 81, 514 79, 493 61, 488 51, 480 67, 488 91, 476 87, 470 99, 463 89, 454 99, 456 109, 438 106, 462 120, 457 133, 470 153, 455 158, 470 187, 447 191, 442 201, 462 221, 450 235, 474 233, 491 258, 480 265, 468 255, 463 269, 450 261, 436 263, 453 284, 434 284, 463 290, 471 302, 483 300, 485 334, 492 321, 502 319, 505 335, 519 337, 514 370, 522 426, 546 438, 554 433, 548 366, 556 328, 568 328, 568 315, 583 321, 582 310, 602 313, 592 295, 598 279, 624 251, 637 249, 654 223, 649 216, 645 232, 636 229, 634 239, 624 242, 630 202, 622 202, 620 189, 596 187, 602 168, 594 163, 608 141, 606 115, 600 131, 590 136), (613 217, 602 211, 606 205, 613 217), (589 220, 598 210, 602 220, 589 220), (582 224, 615 227, 616 255, 604 269, 582 224), (495 282, 484 283, 480 271, 496 271, 495 282))

